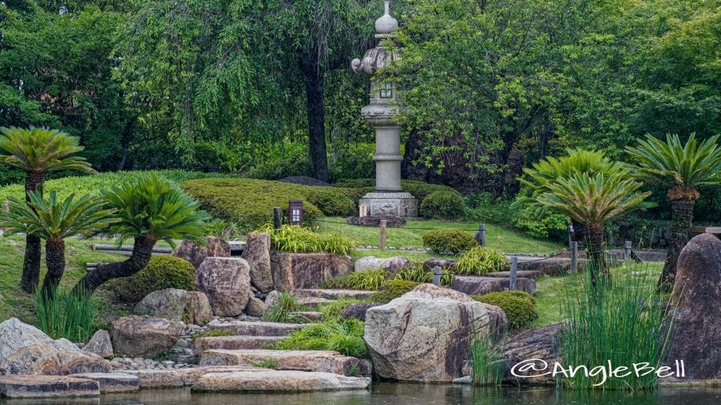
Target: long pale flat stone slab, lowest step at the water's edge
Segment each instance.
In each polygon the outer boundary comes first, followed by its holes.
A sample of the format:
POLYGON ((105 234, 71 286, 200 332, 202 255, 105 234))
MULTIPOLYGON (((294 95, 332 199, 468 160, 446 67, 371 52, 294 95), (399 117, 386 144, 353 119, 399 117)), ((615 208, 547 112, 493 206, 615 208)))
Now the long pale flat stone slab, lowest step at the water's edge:
POLYGON ((332 373, 275 371, 205 374, 195 383, 194 392, 308 392, 361 390, 370 378, 347 377, 332 373))

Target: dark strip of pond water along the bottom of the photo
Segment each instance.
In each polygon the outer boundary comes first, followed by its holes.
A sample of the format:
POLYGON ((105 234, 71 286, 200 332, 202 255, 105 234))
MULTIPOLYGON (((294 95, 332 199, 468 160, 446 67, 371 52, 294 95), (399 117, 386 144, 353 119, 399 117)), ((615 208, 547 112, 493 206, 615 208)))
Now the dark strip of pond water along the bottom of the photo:
POLYGON ((555 388, 472 388, 470 386, 374 383, 367 391, 286 394, 198 394, 190 389, 141 390, 100 399, 2 401, 4 405, 717 405, 721 387, 660 388, 646 392, 588 392, 555 388))

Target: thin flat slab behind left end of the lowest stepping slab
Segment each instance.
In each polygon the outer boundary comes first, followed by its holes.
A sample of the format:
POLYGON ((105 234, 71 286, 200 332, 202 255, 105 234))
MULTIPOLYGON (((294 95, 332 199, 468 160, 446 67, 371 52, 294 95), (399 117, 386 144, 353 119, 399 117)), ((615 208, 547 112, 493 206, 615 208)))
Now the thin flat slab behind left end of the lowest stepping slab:
POLYGON ((192 386, 201 375, 208 373, 234 373, 236 371, 265 371, 259 368, 244 365, 210 366, 177 369, 147 369, 123 370, 118 373, 127 373, 138 377, 140 388, 172 388, 192 386))

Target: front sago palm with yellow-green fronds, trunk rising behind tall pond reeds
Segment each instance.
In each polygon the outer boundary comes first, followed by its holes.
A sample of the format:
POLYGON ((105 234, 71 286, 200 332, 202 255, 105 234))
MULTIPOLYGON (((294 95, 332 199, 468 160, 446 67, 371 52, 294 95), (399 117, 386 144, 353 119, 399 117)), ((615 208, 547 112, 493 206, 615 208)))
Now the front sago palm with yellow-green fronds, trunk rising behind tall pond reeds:
POLYGON ((540 208, 568 215, 585 225, 594 285, 597 271, 609 277, 603 259, 603 226, 632 210, 653 205, 644 201, 650 192, 639 192, 641 186, 624 170, 595 176, 574 174, 549 182, 548 191, 536 200, 540 208))

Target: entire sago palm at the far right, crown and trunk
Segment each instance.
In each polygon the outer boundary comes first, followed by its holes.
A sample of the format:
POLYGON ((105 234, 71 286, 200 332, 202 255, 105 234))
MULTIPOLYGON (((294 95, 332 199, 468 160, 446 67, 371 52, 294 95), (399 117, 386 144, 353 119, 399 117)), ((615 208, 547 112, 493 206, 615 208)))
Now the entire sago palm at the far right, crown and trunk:
POLYGON ((721 184, 721 148, 718 136, 698 143, 691 134, 685 145, 678 135, 666 135, 666 141, 646 135, 639 146, 627 148, 636 177, 658 184, 668 190, 671 200, 671 237, 668 257, 663 266, 659 286, 665 291, 673 287, 678 255, 689 237, 694 221, 694 203, 699 187, 721 184))

